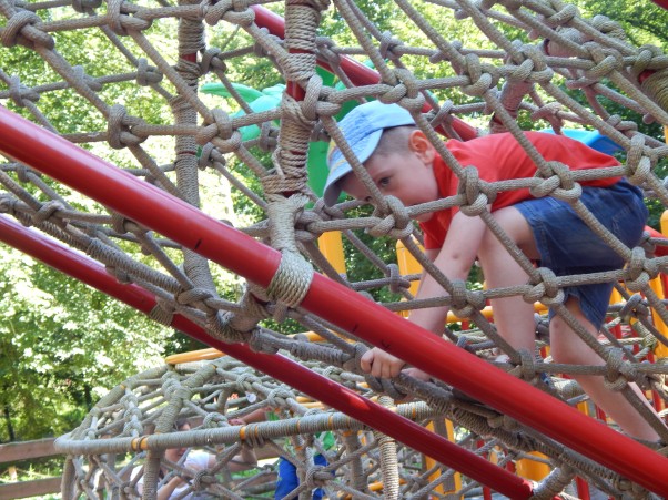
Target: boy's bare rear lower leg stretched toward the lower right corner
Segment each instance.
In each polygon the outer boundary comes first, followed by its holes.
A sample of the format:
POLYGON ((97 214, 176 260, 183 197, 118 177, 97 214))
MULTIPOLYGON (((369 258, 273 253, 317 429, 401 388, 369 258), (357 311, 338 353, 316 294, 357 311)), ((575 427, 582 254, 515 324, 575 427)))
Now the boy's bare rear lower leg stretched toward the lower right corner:
MULTIPOLYGON (((566 308, 589 331, 597 336, 598 331, 583 315, 577 298, 570 297, 566 308)), ((604 365, 604 360, 559 316, 555 316, 549 324, 550 354, 555 363, 568 365, 604 365)), ((659 440, 659 435, 628 402, 621 392, 609 390, 600 376, 574 376, 583 390, 626 433, 648 441, 659 440)), ((651 405, 636 384, 629 387, 638 395, 641 401, 651 409, 651 405)), ((652 409, 654 411, 654 409, 652 409)))

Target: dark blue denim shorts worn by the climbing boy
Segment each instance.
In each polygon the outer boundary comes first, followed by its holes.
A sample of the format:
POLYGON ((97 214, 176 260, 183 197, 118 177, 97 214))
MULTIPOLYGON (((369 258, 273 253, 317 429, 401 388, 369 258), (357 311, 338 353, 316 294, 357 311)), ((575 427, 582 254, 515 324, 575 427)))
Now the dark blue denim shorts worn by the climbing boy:
MULTIPOLYGON (((621 178, 609 187, 583 186, 580 201, 621 243, 636 246, 645 229, 647 207, 642 192, 621 178)), ((534 233, 540 265, 557 276, 620 269, 625 261, 600 239, 566 202, 546 196, 516 205, 534 233)), ((565 298, 576 297, 585 317, 603 325, 614 283, 564 288, 565 298)), ((550 319, 554 312, 550 310, 550 319)))

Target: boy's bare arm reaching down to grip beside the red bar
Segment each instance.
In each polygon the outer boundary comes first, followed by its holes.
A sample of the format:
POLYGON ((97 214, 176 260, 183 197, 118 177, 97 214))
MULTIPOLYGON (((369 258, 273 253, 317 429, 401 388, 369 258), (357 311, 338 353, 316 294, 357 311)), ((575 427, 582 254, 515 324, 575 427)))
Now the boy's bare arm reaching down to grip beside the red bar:
MULTIPOLYGON (((448 279, 466 279, 485 229, 486 225, 480 217, 469 217, 457 212, 453 217, 443 247, 434 259, 434 265, 448 279)), ((443 287, 433 276, 424 274, 415 298, 433 298, 442 295, 445 295, 443 287)), ((408 320, 441 336, 447 312, 446 306, 415 309, 408 316, 408 320)), ((392 339, 386 339, 386 344, 392 345, 392 339)), ((361 359, 362 369, 371 373, 374 377, 396 377, 404 365, 403 360, 377 347, 367 350, 361 359)))

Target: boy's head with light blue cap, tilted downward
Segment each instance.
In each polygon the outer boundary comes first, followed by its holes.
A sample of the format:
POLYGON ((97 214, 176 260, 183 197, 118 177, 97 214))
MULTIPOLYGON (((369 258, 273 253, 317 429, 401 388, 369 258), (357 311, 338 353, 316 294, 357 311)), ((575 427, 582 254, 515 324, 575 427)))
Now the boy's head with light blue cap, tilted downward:
MULTIPOLYGON (((436 151, 408 111, 398 104, 374 101, 353 109, 338 127, 382 194, 393 195, 406 206, 439 197, 432 170, 436 151)), ((330 176, 323 193, 326 205, 334 205, 342 191, 356 198, 368 196, 337 146, 330 151, 327 166, 330 176)))

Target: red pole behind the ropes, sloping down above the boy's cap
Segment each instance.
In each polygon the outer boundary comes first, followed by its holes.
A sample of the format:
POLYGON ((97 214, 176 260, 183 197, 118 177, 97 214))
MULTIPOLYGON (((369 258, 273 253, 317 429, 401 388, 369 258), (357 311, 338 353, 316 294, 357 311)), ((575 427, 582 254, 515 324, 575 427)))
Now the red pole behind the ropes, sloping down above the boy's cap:
MULTIPOLYGON (((283 18, 262 6, 251 6, 255 11, 255 23, 261 28, 266 28, 270 33, 283 39, 285 38, 285 21, 283 18)), ((326 71, 332 72, 332 68, 324 61, 317 61, 317 64, 326 71)), ((347 55, 342 55, 340 65, 355 85, 373 85, 381 81, 377 71, 365 67, 347 55)), ((424 112, 429 111, 431 106, 425 104, 424 112)), ((478 136, 475 127, 468 123, 453 118, 453 130, 459 134, 462 140, 468 141, 478 136)))

